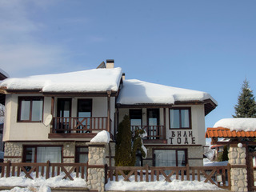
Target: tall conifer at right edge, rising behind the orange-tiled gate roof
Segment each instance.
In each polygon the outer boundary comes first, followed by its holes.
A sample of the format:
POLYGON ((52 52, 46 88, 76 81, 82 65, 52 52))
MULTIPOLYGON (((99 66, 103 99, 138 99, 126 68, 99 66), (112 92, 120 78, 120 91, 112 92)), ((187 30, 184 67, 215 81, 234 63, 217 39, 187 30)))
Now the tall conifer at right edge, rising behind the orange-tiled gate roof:
POLYGON ((238 104, 234 106, 233 118, 255 118, 256 103, 253 91, 250 90, 249 82, 245 80, 242 84, 242 92, 238 96, 238 104))

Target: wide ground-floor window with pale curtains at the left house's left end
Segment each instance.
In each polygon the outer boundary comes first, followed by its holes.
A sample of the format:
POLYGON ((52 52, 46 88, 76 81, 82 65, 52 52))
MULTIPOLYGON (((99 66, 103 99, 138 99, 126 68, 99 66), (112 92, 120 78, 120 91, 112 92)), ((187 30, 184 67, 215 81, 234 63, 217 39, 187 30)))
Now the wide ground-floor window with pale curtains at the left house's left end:
POLYGON ((23 162, 62 162, 62 146, 24 146, 23 162))

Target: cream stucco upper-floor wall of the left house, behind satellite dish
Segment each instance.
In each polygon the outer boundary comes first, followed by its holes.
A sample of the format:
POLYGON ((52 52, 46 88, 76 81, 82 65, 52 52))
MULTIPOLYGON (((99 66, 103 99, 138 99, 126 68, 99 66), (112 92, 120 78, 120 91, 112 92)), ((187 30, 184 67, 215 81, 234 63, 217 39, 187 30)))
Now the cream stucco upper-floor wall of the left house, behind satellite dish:
MULTIPOLYGON (((50 133, 50 125, 43 122, 17 122, 18 97, 28 96, 22 94, 6 95, 6 116, 3 132, 3 141, 47 141, 50 133)), ((41 96, 39 94, 29 96, 41 96)), ((93 99, 93 117, 107 117, 107 98, 95 97, 93 99)), ((57 98, 54 100, 54 117, 57 114, 57 98)), ((111 130, 114 130, 114 98, 111 98, 110 118, 112 119, 111 130)), ((51 97, 44 97, 43 119, 50 114, 51 97)), ((72 117, 77 117, 78 98, 72 98, 72 117)), ((72 138, 74 140, 74 138, 72 138)), ((78 139, 81 140, 81 139, 78 139)))

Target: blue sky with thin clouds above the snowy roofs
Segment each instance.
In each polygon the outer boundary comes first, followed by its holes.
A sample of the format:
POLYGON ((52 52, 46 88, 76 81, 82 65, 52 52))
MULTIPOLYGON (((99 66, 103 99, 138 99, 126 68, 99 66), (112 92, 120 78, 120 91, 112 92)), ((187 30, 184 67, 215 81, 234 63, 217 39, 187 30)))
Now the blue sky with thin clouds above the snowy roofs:
POLYGON ((0 68, 25 77, 113 58, 126 78, 210 93, 210 127, 232 117, 245 78, 255 90, 255 10, 250 0, 1 0, 0 68))

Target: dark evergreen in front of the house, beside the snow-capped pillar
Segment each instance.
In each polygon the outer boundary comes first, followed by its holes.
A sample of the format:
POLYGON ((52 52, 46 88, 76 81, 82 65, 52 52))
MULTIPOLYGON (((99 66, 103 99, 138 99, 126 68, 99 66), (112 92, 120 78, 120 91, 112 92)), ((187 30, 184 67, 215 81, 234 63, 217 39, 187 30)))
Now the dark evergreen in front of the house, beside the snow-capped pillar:
POLYGON ((130 130, 130 118, 125 115, 118 126, 115 166, 134 166, 138 150, 141 151, 142 157, 146 157, 146 153, 142 149, 142 134, 144 134, 144 130, 138 127, 132 133, 130 130))

